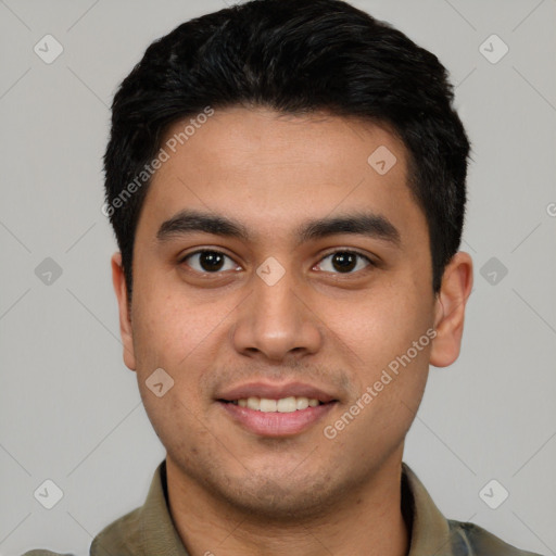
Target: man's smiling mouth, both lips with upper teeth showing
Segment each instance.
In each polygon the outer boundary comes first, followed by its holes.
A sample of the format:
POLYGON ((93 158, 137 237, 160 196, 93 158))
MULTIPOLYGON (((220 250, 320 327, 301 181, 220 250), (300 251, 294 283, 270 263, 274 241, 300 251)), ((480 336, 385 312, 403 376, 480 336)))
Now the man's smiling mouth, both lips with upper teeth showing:
POLYGON ((339 400, 306 384, 248 384, 215 400, 232 422, 257 437, 290 437, 313 428, 339 400))

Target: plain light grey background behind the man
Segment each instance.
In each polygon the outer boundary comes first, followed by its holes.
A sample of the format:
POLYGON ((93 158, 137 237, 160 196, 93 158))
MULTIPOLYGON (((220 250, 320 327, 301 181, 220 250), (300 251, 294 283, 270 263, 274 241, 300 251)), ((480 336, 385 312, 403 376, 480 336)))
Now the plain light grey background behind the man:
MULTIPOLYGON (((447 66, 473 143, 463 353, 431 369, 405 460, 447 517, 556 554, 556 1, 353 3, 447 66), (479 49, 492 34, 509 48, 497 63, 479 49), (492 479, 509 492, 497 509, 479 495, 492 479)), ((112 96, 147 46, 224 5, 0 0, 1 555, 88 554, 164 457, 122 359, 101 156, 112 96), (34 52, 47 34, 64 49, 51 64, 34 52), (47 257, 62 269, 50 283, 47 257), (64 493, 50 510, 34 497, 46 479, 64 493)))

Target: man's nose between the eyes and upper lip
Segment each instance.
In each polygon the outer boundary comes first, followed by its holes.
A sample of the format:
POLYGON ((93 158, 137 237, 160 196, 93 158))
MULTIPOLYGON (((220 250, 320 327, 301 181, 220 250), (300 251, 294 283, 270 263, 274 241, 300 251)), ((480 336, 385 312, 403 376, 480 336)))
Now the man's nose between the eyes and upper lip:
POLYGON ((319 318, 291 270, 276 283, 253 274, 252 287, 238 307, 232 332, 239 353, 279 362, 318 352, 323 342, 319 318))

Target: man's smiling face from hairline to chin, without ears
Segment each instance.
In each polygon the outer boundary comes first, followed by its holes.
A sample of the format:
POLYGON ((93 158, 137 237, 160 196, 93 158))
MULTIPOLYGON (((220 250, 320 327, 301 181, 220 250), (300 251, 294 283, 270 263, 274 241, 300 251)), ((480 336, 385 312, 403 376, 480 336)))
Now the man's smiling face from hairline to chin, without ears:
POLYGON ((238 108, 166 151, 135 239, 125 359, 168 465, 236 507, 321 511, 401 458, 425 389, 430 345, 409 349, 434 326, 435 300, 406 150, 370 124, 238 108), (396 157, 386 173, 384 148, 396 157), (163 226, 182 211, 248 237, 163 226), (366 231, 300 235, 362 215, 366 231), (174 380, 162 396, 147 383, 159 368, 174 380), (294 400, 267 413, 248 396, 294 400))

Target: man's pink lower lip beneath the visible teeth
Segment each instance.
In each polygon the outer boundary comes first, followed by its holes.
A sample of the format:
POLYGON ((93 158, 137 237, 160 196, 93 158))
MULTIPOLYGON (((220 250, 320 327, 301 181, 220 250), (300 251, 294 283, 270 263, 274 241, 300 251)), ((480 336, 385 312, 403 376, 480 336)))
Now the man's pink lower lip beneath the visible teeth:
POLYGON ((261 437, 299 434, 323 419, 336 405, 336 402, 330 402, 291 413, 265 413, 232 403, 217 403, 236 422, 261 437))

